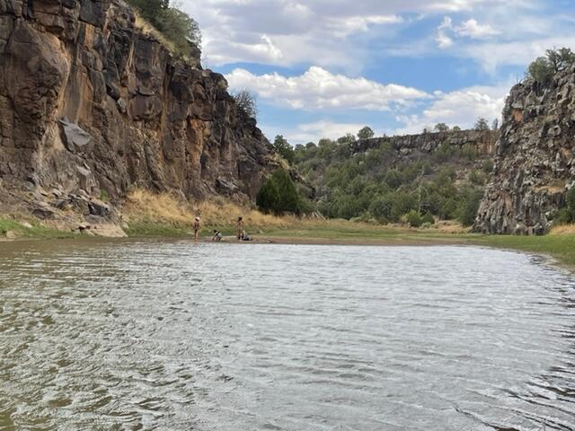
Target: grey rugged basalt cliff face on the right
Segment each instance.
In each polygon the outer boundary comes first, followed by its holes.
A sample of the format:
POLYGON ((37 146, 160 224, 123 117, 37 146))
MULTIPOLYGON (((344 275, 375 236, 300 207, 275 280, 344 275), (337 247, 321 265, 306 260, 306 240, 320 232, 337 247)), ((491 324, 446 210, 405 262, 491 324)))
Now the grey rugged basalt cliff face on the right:
POLYGON ((513 87, 475 230, 542 234, 575 186, 575 67, 513 87))

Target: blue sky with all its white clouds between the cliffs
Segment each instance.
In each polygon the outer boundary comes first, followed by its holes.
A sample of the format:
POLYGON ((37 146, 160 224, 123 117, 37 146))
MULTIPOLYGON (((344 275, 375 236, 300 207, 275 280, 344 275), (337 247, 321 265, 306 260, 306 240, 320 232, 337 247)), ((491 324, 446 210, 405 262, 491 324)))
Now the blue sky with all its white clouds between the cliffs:
POLYGON ((547 48, 575 50, 575 0, 181 0, 202 63, 257 96, 292 145, 500 119, 547 48))

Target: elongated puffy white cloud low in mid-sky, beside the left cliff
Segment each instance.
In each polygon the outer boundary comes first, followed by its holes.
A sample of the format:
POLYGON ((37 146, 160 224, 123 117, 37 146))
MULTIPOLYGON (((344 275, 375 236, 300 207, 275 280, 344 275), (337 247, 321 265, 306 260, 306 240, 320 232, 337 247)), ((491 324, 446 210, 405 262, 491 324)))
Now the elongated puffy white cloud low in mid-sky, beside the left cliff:
POLYGON ((294 110, 389 110, 391 105, 408 106, 429 97, 415 88, 334 75, 319 66, 292 77, 253 75, 238 68, 226 79, 233 89, 248 89, 261 99, 294 110))

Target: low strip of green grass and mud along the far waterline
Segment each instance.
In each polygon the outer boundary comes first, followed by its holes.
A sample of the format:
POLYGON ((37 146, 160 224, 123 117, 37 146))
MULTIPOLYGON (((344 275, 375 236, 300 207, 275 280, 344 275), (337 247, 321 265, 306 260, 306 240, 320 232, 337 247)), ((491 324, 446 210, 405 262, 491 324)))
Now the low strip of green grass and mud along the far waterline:
MULTIPOLYGON (((12 238, 5 238, 0 234, 0 244, 22 241, 40 240, 95 240, 112 241, 113 238, 94 235, 92 233, 71 233, 43 226, 42 224, 28 224, 22 227, 14 220, 2 219, 4 230, 17 227, 12 238)), ((217 228, 217 223, 206 223, 200 236, 200 242, 211 242, 211 230, 217 228)), ((575 228, 559 229, 556 233, 544 236, 514 236, 514 235, 483 235, 469 233, 464 229, 446 230, 440 227, 428 229, 413 229, 397 225, 362 224, 342 220, 328 221, 288 221, 283 225, 255 224, 249 233, 253 238, 251 242, 238 242, 233 234, 233 228, 226 226, 221 229, 224 233, 224 243, 252 243, 252 244, 288 244, 288 245, 341 245, 341 246, 482 246, 497 250, 522 251, 532 255, 544 257, 552 262, 554 267, 561 267, 575 272, 575 228)), ((454 227, 454 226, 451 226, 454 227)), ((220 229, 218 229, 220 230, 220 229)), ((0 230, 0 233, 1 230, 0 230)), ((95 233, 95 232, 94 232, 95 233)), ((166 223, 128 224, 127 239, 144 240, 189 240, 193 242, 193 233, 190 227, 166 223)))

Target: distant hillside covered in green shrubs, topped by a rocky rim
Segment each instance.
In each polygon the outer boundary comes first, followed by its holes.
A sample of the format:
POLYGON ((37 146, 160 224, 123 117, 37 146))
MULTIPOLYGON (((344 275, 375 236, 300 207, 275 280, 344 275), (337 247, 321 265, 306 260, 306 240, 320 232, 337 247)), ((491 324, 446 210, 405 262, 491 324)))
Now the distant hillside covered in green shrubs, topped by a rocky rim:
MULTIPOLYGON (((297 145, 295 163, 324 216, 473 224, 498 132, 447 131, 297 145), (414 213, 416 216, 414 216, 414 213)), ((413 224, 413 223, 412 223, 413 224)))

